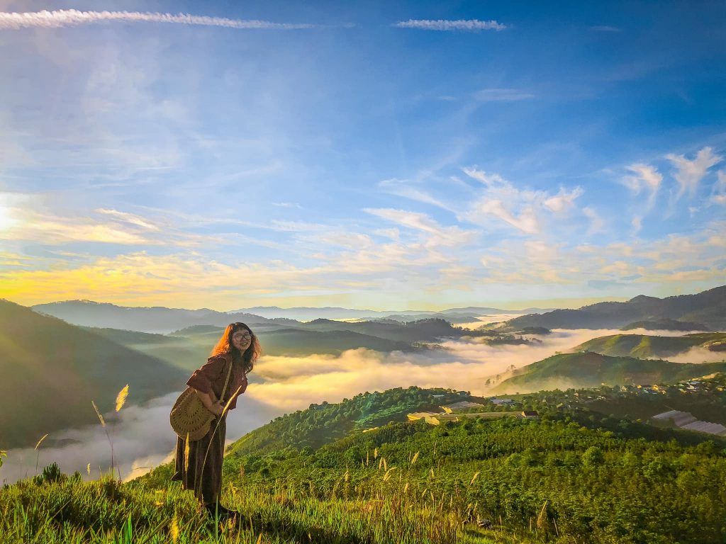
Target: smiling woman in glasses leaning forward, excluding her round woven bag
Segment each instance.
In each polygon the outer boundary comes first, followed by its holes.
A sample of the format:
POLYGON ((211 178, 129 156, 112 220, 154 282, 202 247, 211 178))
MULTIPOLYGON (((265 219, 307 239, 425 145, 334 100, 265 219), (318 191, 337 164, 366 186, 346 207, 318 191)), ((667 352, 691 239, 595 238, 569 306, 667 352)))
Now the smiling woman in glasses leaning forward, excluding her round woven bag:
POLYGON ((195 496, 212 516, 215 513, 219 516, 234 514, 234 511, 219 504, 224 435, 227 433, 227 411, 224 411, 224 405, 232 396, 228 410, 236 408, 237 396, 247 389, 247 374, 252 371, 259 355, 260 345, 252 330, 245 323, 231 323, 224 329, 207 363, 196 370, 187 382, 215 418, 203 438, 189 442, 187 470, 184 470, 185 443, 177 438, 176 473, 171 479, 181 481, 184 489, 194 490, 195 496), (229 365, 232 365, 232 373, 227 390, 222 391, 229 365))

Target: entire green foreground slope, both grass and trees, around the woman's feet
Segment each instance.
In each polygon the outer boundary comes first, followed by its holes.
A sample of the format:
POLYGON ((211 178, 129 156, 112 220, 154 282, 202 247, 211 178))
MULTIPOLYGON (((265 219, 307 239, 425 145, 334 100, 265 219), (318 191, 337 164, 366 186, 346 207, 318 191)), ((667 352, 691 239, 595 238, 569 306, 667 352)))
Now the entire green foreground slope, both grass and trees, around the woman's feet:
POLYGON ((277 418, 227 450, 221 499, 242 512, 228 525, 198 514, 192 494, 169 482, 171 464, 126 484, 50 466, 0 489, 0 534, 13 543, 724 542, 726 489, 714 475, 726 473, 725 439, 563 407, 554 393, 521 399, 518 409, 539 419, 406 421, 411 410, 481 400, 417 387, 277 418))

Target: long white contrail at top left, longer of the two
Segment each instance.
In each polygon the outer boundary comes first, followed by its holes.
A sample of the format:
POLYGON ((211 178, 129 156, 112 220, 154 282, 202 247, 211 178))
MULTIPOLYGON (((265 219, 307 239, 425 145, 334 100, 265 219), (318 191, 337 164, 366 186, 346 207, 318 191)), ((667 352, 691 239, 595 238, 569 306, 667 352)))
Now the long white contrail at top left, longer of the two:
POLYGON ((70 25, 90 25, 103 21, 125 22, 176 22, 181 25, 221 26, 225 28, 261 28, 294 30, 298 28, 317 28, 318 25, 289 22, 269 22, 260 20, 227 19, 225 17, 206 17, 179 13, 142 13, 142 12, 79 12, 77 9, 58 9, 56 11, 7 13, 0 12, 0 29, 19 28, 59 28, 70 25))

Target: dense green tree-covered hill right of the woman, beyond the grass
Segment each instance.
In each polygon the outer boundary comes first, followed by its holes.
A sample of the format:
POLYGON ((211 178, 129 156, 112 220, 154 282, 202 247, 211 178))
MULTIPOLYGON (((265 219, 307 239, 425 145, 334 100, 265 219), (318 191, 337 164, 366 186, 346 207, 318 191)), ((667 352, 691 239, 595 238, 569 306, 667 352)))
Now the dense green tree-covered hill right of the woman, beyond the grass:
MULTIPOLYGON (((311 505, 312 497, 352 512, 393 498, 406 508, 495 520, 529 535, 519 540, 526 543, 726 538, 726 490, 714 477, 726 471, 725 440, 554 408, 546 395, 518 405, 539 411, 539 419, 403 421, 407 406, 466 398, 480 400, 411 387, 311 405, 235 442, 224 479, 260 495, 295 496, 288 508, 311 505), (362 424, 365 413, 373 419, 362 424)), ((170 474, 171 465, 161 466, 141 482, 166 489, 170 474)), ((475 542, 465 538, 467 526, 459 531, 453 541, 475 542)))

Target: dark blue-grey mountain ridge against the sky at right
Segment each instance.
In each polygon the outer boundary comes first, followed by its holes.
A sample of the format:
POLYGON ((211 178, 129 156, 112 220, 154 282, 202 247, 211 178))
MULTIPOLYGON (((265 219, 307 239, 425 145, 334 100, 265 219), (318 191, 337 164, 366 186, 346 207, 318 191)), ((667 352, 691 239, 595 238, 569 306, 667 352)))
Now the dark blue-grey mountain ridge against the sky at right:
POLYGON ((598 302, 578 310, 554 310, 521 316, 507 321, 507 324, 518 328, 619 329, 634 321, 664 318, 703 323, 714 331, 726 330, 726 286, 663 299, 639 295, 627 302, 598 302))

